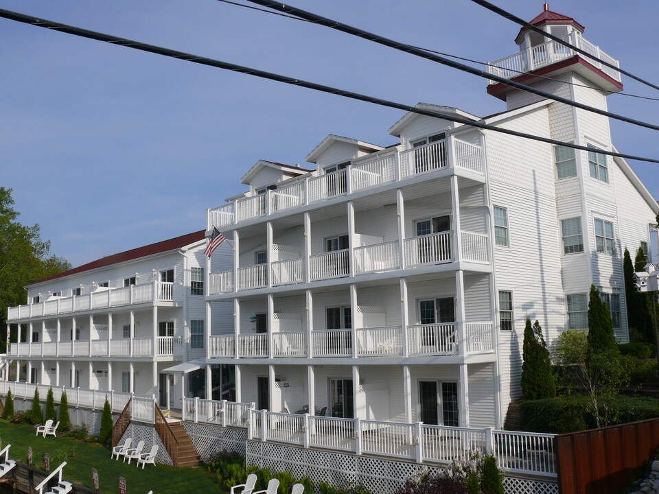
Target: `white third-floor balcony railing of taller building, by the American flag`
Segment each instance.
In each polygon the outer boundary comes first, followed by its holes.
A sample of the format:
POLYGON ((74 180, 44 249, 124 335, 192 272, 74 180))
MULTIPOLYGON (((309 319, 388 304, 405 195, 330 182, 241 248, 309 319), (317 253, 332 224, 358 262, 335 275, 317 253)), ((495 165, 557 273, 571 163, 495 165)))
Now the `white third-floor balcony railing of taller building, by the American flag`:
MULTIPOLYGON (((354 274, 401 270, 456 261, 453 255, 453 237, 454 233, 448 231, 404 239, 402 242, 404 266, 400 266, 401 242, 397 240, 356 247, 352 249, 354 274)), ((463 261, 488 262, 487 235, 462 231, 460 239, 463 261)), ((313 254, 309 256, 308 262, 305 257, 275 261, 270 266, 270 277, 268 277, 267 264, 238 268, 238 287, 235 291, 348 277, 351 275, 350 250, 313 254), (307 270, 309 270, 308 275, 307 270)), ((233 292, 234 288, 233 270, 209 274, 209 295, 233 292)))

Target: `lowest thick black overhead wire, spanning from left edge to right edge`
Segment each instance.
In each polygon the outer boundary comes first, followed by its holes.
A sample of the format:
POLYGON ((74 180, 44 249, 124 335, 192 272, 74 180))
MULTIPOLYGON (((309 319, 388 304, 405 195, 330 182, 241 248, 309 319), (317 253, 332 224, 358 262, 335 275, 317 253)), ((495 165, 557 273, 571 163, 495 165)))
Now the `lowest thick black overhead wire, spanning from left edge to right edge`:
MULTIPOLYGON (((324 86, 323 84, 316 84, 315 82, 308 82, 304 80, 290 78, 286 75, 279 75, 276 73, 266 72, 259 69, 244 67, 244 65, 222 62, 221 60, 213 60, 212 58, 205 58, 198 55, 187 54, 183 51, 176 51, 173 49, 163 48, 156 45, 148 45, 147 43, 140 43, 139 41, 133 41, 126 38, 119 38, 118 36, 112 36, 111 34, 103 34, 100 32, 85 30, 82 29, 81 27, 74 27, 71 25, 57 23, 54 21, 39 19, 38 17, 29 16, 26 14, 20 14, 19 12, 12 12, 11 10, 0 9, 0 18, 31 24, 37 27, 45 27, 47 29, 65 32, 67 34, 73 34, 74 36, 80 36, 82 38, 104 41, 105 43, 111 43, 113 45, 124 46, 132 49, 138 49, 141 51, 148 51, 149 53, 177 58, 178 60, 185 60, 186 62, 194 62, 197 64, 207 65, 209 67, 217 67, 218 69, 225 69, 233 72, 245 73, 247 75, 254 75, 255 77, 259 77, 263 79, 274 80, 277 82, 284 82, 284 84, 291 84, 292 86, 301 86, 307 89, 313 89, 314 91, 321 91, 322 93, 329 93, 338 96, 348 97, 351 99, 357 99, 359 101, 377 104, 380 106, 387 106, 389 108, 395 108, 397 110, 417 113, 419 115, 426 115, 427 117, 441 118, 448 121, 454 121, 457 124, 463 124, 465 126, 476 127, 484 130, 492 130, 493 132, 500 132, 501 134, 508 134, 515 137, 522 137, 524 139, 532 139, 533 141, 541 141, 549 144, 563 145, 566 146, 567 148, 592 152, 592 148, 588 148, 587 146, 577 145, 573 143, 566 143, 562 141, 557 141, 556 139, 548 139, 547 137, 540 137, 533 134, 525 134, 524 132, 518 132, 516 130, 510 130, 507 128, 499 128, 489 124, 484 124, 481 121, 473 121, 470 119, 455 117, 454 115, 448 115, 446 113, 424 110, 422 108, 415 108, 414 106, 391 102, 386 99, 380 99, 373 96, 362 95, 360 93, 353 93, 351 91, 337 89, 332 86, 324 86)), ((632 154, 623 154, 623 153, 605 151, 605 150, 597 150, 597 153, 606 154, 608 156, 615 156, 618 158, 647 161, 649 163, 659 163, 659 159, 645 158, 643 156, 634 156, 632 154)))

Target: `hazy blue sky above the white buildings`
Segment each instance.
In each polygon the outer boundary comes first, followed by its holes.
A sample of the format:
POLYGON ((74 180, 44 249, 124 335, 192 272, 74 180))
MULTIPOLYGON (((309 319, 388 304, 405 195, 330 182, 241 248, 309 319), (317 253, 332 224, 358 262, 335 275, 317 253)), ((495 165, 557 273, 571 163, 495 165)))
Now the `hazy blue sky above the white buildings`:
MULTIPOLYGON (((542 2, 498 0, 523 19, 542 2)), ((468 0, 297 0, 292 5, 406 43, 491 61, 518 26, 468 0)), ((627 71, 659 83, 651 1, 553 1, 627 71)), ((325 27, 216 0, 0 0, 0 8, 405 104, 505 109, 486 81, 325 27)), ((380 145, 402 113, 0 19, 0 185, 24 224, 78 266, 200 230, 205 209, 244 190, 259 158, 304 166, 327 134, 380 145)), ((659 91, 623 78, 625 92, 659 91)), ((659 102, 609 109, 659 123, 659 102)), ((612 121, 621 152, 659 157, 659 133, 612 121)), ((659 165, 632 162, 659 197, 659 165)))

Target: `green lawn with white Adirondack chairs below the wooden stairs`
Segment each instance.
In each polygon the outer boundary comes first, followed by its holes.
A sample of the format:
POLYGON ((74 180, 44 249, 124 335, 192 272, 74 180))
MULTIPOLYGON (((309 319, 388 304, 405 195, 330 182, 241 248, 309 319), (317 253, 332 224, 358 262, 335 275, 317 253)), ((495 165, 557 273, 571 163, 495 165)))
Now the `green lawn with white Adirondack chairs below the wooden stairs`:
POLYGON ((100 492, 115 494, 119 492, 119 477, 126 478, 126 491, 130 494, 207 494, 220 493, 220 488, 214 476, 202 468, 174 468, 157 464, 147 465, 144 470, 137 469, 134 463, 130 465, 122 460, 111 460, 110 450, 91 443, 77 443, 75 440, 64 437, 34 435, 31 425, 12 425, 0 423, 0 439, 2 447, 11 444, 10 458, 27 461, 27 447, 32 446, 33 464, 43 462, 43 454, 48 453, 51 458, 51 469, 57 467, 61 460, 54 461, 54 457, 62 456, 73 451, 73 456, 66 459, 64 478, 78 484, 93 488, 91 469, 98 470, 100 492))

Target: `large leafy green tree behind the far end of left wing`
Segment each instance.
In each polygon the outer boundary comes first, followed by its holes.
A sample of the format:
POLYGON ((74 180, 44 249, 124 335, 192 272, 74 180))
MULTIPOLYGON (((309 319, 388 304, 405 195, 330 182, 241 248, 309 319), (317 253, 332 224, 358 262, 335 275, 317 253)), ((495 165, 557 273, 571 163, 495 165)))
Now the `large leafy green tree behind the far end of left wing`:
MULTIPOLYGON (((71 268, 65 259, 49 253, 50 242, 41 239, 38 224, 25 226, 16 221, 12 189, 0 187, 0 326, 5 327, 7 307, 27 302, 23 287, 71 268)), ((12 325, 12 341, 16 340, 12 325)), ((25 341, 27 326, 21 333, 25 341)), ((5 353, 5 338, 0 340, 0 353, 5 353)))

